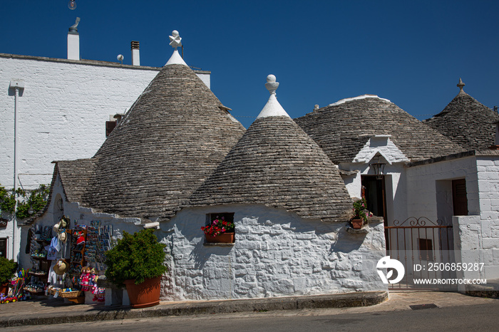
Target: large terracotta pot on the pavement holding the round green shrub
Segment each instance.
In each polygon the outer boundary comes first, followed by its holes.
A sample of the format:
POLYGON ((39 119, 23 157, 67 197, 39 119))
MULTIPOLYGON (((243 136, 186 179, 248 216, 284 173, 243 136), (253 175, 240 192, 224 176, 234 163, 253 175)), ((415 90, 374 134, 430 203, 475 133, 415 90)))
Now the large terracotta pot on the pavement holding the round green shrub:
POLYGON ((147 308, 160 304, 161 276, 145 279, 135 285, 135 279, 125 280, 126 291, 132 308, 147 308))

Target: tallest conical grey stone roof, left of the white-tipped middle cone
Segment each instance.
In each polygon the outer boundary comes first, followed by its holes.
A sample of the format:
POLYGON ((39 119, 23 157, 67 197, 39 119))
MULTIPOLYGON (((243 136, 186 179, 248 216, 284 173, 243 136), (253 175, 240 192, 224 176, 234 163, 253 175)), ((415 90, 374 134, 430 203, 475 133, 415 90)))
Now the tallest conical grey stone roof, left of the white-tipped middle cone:
POLYGON ((170 219, 241 138, 245 128, 178 62, 161 69, 91 160, 58 163, 68 200, 170 219))

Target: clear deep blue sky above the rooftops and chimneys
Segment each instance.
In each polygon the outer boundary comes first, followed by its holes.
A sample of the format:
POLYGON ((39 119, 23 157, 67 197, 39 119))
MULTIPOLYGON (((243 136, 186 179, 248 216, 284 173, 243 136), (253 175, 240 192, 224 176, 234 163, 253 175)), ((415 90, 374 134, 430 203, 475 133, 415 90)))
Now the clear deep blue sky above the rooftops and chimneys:
POLYGON ((178 30, 190 66, 248 127, 267 102, 269 73, 292 118, 371 93, 419 120, 464 90, 499 105, 499 1, 2 1, 0 53, 66 58, 76 16, 81 58, 163 66, 178 30))

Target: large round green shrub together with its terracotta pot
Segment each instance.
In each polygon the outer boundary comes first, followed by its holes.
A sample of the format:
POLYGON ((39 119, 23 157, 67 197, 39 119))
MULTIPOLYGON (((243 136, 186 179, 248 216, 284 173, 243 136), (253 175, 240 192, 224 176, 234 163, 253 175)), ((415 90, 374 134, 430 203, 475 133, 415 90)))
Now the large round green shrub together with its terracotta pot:
POLYGON ((163 264, 165 244, 158 243, 153 232, 123 232, 123 239, 106 251, 106 279, 118 287, 126 286, 132 308, 160 303, 161 275, 168 269, 163 264))

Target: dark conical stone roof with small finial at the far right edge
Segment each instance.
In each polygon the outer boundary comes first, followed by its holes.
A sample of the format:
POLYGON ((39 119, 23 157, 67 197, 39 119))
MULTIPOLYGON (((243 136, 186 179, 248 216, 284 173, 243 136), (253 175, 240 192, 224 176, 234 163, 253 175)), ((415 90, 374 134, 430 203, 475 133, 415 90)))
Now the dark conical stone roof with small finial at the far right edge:
POLYGON ((423 120, 423 123, 446 135, 465 150, 483 150, 495 145, 494 123, 497 121, 498 113, 475 100, 461 88, 441 113, 423 120))

